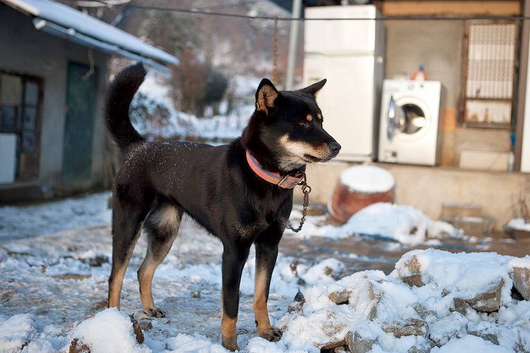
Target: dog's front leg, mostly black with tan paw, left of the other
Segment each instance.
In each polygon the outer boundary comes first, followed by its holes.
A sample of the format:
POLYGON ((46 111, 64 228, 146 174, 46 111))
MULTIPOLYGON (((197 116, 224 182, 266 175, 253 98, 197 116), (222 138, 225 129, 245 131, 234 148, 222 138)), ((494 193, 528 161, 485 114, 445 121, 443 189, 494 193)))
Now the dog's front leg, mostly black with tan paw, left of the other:
POLYGON ((239 350, 236 322, 239 311, 239 284, 241 273, 248 258, 250 244, 225 244, 223 251, 223 318, 221 343, 227 350, 239 350))

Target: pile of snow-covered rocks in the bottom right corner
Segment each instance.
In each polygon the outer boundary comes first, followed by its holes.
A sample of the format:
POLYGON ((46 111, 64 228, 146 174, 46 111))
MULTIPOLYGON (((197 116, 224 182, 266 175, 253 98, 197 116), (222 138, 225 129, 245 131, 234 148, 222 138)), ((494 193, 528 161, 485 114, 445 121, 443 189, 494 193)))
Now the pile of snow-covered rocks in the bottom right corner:
POLYGON ((511 298, 515 265, 530 265, 530 257, 413 250, 390 275, 366 270, 307 289, 281 342, 309 352, 338 345, 351 352, 463 352, 470 344, 528 352, 530 303, 511 298), (420 286, 405 282, 414 275, 420 286))

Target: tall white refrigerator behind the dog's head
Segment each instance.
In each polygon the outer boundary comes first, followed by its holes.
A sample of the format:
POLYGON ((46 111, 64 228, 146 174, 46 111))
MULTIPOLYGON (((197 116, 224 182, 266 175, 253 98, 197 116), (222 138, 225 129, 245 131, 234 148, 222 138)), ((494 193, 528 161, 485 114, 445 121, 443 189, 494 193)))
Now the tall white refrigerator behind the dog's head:
POLYGON ((376 124, 383 79, 384 27, 372 5, 323 6, 305 10, 304 84, 327 78, 317 101, 324 128, 341 144, 340 160, 375 157, 376 124))

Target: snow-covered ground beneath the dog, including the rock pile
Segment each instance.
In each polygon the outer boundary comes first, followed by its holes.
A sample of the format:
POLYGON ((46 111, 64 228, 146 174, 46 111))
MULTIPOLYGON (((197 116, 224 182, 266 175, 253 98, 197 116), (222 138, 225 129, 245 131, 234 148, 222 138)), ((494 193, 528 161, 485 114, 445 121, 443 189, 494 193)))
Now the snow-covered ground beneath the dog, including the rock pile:
MULTIPOLYGON (((123 282, 122 311, 105 309, 112 254, 108 196, 0 208, 0 352, 68 352, 73 338, 91 345, 92 353, 225 352, 219 345, 222 246, 190 218, 155 273, 153 294, 166 318, 147 318, 141 310, 136 270, 146 250, 143 236, 123 282), (147 327, 143 344, 135 341, 129 314, 147 327)), ((293 214, 292 223, 300 216, 293 214)), ((304 229, 325 234, 332 228, 323 218, 308 217, 304 229)), ((386 218, 379 215, 379 222, 386 218)), ((432 352, 459 352, 470 344, 484 352, 530 350, 530 304, 511 297, 514 268, 530 268, 530 257, 414 250, 390 275, 366 270, 338 280, 345 264, 337 259, 280 253, 269 297, 271 321, 284 329, 278 343, 255 332, 254 261, 251 252, 241 279, 238 333, 246 352, 320 352, 330 341, 343 344, 350 331, 357 332, 352 344, 364 340, 371 352, 407 352, 413 345, 418 350, 409 352, 429 352, 431 341, 437 345, 432 352), (473 300, 495 284, 499 307, 473 309, 495 304, 497 297, 473 300), (291 303, 298 291, 303 305, 291 303), (329 299, 337 291, 345 291, 348 304, 329 299), (455 299, 461 299, 458 308, 455 299), (403 326, 420 334, 397 338, 403 326)))

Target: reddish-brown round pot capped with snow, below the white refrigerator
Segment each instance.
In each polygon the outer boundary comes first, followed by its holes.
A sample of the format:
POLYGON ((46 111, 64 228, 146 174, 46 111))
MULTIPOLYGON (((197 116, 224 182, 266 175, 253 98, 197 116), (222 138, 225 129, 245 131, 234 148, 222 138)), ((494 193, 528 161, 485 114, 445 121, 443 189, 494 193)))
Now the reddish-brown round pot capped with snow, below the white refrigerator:
POLYGON ((341 173, 327 208, 345 223, 355 212, 373 203, 393 203, 395 180, 379 166, 362 164, 341 173))

